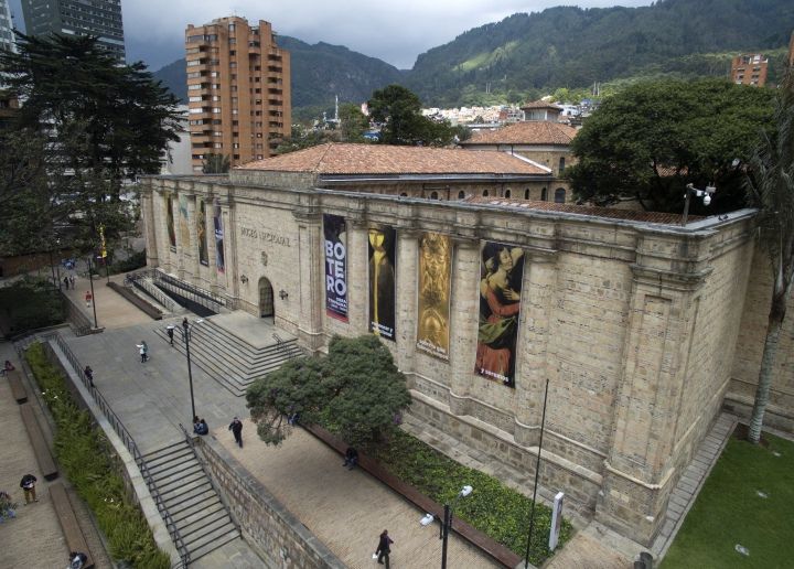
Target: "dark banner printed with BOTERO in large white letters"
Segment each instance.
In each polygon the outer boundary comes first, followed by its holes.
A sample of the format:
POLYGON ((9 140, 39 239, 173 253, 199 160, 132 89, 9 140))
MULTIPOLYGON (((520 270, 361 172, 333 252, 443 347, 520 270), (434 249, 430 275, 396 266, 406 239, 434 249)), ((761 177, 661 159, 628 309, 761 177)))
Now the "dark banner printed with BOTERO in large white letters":
POLYGON ((325 313, 347 322, 347 245, 344 217, 323 214, 325 313))

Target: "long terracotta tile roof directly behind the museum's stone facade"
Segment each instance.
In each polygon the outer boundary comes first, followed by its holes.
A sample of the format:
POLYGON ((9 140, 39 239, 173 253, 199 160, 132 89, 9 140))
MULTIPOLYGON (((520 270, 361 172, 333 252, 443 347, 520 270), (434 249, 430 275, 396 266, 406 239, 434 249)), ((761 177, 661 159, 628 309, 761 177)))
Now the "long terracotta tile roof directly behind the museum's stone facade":
POLYGON ((505 152, 330 142, 238 167, 243 170, 355 174, 513 174, 548 171, 505 152))

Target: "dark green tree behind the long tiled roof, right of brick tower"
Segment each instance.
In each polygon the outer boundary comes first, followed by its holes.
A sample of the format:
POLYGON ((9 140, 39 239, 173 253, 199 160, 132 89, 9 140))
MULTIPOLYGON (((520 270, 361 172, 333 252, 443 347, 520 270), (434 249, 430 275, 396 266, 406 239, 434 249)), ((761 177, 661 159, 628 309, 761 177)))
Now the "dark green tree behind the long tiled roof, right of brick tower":
POLYGON ((444 147, 454 142, 459 133, 447 121, 423 117, 419 97, 401 85, 375 90, 367 106, 372 120, 382 125, 383 144, 444 147))

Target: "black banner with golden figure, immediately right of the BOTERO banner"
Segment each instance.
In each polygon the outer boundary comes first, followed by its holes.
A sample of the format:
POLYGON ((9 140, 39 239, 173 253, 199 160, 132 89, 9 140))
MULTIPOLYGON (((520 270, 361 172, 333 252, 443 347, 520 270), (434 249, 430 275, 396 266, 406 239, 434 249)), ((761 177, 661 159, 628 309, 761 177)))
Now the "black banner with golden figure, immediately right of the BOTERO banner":
POLYGON ((369 237, 369 331, 394 341, 397 232, 388 225, 373 227, 369 237))

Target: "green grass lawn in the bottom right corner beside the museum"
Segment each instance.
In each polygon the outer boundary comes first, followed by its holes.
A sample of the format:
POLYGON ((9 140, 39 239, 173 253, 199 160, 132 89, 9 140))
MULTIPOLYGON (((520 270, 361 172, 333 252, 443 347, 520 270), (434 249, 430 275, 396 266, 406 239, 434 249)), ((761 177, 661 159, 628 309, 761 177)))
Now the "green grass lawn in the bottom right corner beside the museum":
POLYGON ((764 438, 768 448, 731 438, 667 552, 664 569, 794 567, 794 443, 764 438), (737 552, 737 544, 750 555, 737 552))

